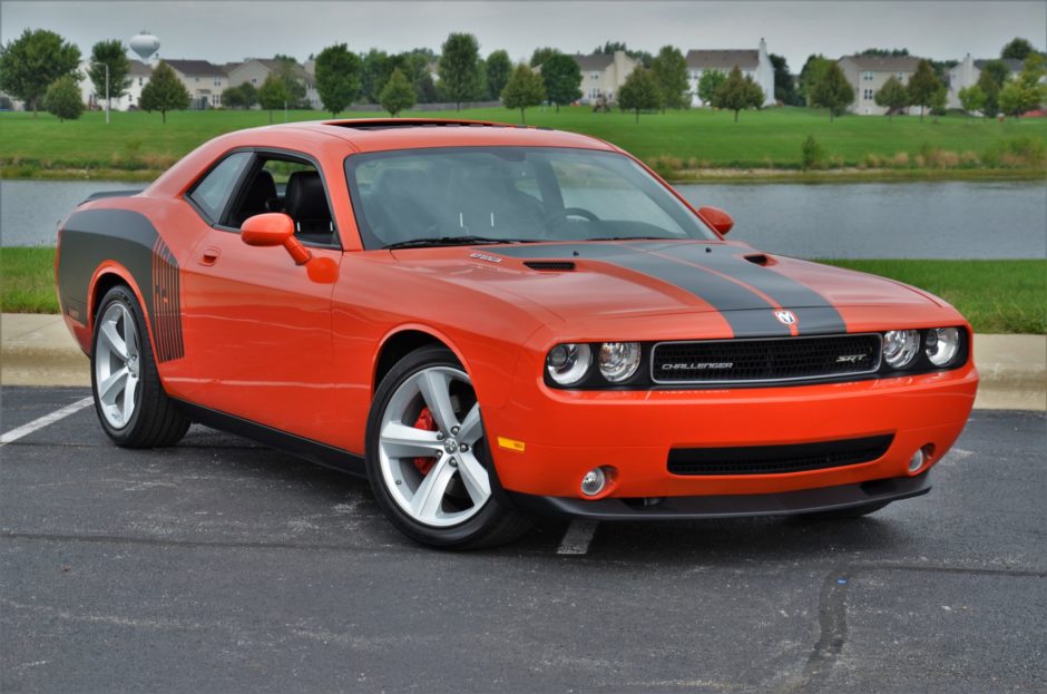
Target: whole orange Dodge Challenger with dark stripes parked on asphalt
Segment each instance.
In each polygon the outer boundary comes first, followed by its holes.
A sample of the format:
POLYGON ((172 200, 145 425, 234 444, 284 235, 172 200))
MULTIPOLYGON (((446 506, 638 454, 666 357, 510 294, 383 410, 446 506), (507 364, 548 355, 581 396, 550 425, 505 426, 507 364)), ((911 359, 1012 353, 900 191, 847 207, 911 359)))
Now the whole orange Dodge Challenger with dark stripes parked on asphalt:
POLYGON ((305 123, 92 196, 56 274, 117 446, 252 437, 429 545, 927 492, 978 384, 963 316, 732 224, 581 135, 305 123))

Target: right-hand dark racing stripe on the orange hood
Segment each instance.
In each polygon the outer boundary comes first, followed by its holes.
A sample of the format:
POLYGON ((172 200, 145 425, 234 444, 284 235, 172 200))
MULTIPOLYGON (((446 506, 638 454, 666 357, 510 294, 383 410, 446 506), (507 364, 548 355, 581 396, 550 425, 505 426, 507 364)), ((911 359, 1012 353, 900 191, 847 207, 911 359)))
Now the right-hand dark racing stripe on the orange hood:
POLYGON ((847 332, 840 312, 824 296, 811 287, 787 277, 771 267, 755 265, 738 257, 741 252, 731 246, 712 247, 689 243, 643 243, 638 248, 650 253, 672 255, 723 273, 762 292, 783 309, 796 314, 796 330, 801 335, 839 334, 847 332))

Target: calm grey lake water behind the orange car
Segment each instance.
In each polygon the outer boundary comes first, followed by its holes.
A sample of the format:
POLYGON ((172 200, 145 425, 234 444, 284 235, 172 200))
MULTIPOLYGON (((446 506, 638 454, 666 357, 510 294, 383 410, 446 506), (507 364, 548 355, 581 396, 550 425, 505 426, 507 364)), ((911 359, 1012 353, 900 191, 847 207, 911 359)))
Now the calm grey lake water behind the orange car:
MULTIPOLYGON (((0 242, 53 245, 56 226, 98 190, 140 184, 4 180, 0 242)), ((702 184, 694 205, 735 218, 731 238, 800 257, 1047 257, 1047 186, 1033 183, 702 184)))

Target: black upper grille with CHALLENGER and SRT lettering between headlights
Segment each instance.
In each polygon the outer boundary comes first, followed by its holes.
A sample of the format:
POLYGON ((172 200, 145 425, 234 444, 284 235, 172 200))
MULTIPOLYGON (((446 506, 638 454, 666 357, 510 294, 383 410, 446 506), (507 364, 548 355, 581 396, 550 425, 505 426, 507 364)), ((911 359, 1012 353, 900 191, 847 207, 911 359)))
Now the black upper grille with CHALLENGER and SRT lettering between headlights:
POLYGON ((880 335, 659 342, 652 350, 655 383, 760 383, 874 373, 880 335))

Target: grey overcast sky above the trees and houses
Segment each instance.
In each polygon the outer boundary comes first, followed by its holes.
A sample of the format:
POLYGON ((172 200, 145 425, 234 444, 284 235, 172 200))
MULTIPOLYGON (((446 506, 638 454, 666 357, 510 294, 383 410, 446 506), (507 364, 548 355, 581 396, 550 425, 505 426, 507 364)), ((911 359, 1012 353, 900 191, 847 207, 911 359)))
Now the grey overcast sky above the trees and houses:
POLYGON ((159 38, 162 57, 219 63, 277 52, 304 60, 335 42, 355 51, 424 46, 439 52, 451 31, 474 33, 485 56, 505 48, 515 60, 536 46, 589 52, 618 40, 652 52, 666 43, 686 51, 755 48, 765 37, 769 50, 798 72, 812 52, 839 57, 869 47, 935 59, 991 58, 1022 36, 1043 50, 1047 1, 2 0, 0 38, 7 42, 27 27, 57 31, 85 53, 95 41, 126 42, 147 29, 159 38))

